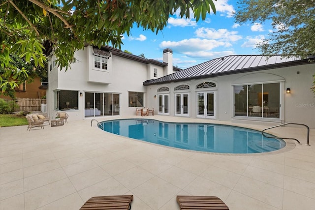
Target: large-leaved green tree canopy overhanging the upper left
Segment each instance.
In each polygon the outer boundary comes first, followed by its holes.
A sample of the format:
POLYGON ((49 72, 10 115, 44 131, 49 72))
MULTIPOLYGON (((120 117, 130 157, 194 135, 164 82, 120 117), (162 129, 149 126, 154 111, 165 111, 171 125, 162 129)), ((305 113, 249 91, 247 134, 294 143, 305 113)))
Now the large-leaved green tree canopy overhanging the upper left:
MULTIPOLYGON (((189 18, 190 9, 197 21, 216 12, 213 0, 1 0, 0 66, 6 78, 26 75, 10 55, 44 66, 53 46, 57 64, 67 70, 85 44, 120 48, 133 26, 158 33, 170 15, 189 18)), ((1 76, 1 89, 7 85, 16 86, 1 76)))

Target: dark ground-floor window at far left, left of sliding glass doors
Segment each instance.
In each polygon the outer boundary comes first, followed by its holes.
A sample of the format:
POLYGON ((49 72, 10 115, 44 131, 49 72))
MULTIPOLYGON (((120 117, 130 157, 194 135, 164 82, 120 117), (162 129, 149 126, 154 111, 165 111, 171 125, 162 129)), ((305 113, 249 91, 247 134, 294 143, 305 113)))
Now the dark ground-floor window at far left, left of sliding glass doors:
POLYGON ((55 90, 54 110, 78 110, 78 91, 55 90))

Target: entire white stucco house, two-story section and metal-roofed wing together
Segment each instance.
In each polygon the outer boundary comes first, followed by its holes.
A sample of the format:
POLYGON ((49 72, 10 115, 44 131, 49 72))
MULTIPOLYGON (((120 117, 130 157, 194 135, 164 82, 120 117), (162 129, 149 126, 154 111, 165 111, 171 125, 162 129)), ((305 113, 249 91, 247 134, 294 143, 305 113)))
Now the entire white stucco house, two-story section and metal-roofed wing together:
POLYGON ((70 119, 126 116, 149 107, 155 115, 315 128, 315 65, 309 59, 226 56, 182 70, 173 66, 170 49, 163 62, 108 46, 87 46, 75 57, 65 72, 54 66, 52 54, 50 116, 64 110, 70 119))

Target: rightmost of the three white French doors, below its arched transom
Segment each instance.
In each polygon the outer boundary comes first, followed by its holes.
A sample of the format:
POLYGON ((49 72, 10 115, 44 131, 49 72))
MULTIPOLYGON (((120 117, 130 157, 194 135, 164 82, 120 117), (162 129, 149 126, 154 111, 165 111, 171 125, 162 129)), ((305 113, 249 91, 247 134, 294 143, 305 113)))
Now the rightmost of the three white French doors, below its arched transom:
POLYGON ((198 92, 197 93, 197 117, 215 118, 215 93, 198 92))

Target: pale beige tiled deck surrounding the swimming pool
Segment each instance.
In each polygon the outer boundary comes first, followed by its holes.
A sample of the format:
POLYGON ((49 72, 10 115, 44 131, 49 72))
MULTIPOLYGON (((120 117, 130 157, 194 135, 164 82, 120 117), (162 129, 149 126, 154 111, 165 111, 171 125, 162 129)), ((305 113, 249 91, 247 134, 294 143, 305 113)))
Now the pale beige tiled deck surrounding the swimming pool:
MULTIPOLYGON (((111 120, 123 117, 97 118, 111 120)), ((173 122, 214 122, 168 116, 173 122)), ((0 128, 0 210, 78 210, 93 196, 133 194, 133 210, 179 210, 176 195, 213 195, 230 210, 304 210, 315 206, 315 129, 272 133, 297 138, 263 154, 179 150, 104 132, 91 120, 63 126, 0 128)), ((236 124, 233 124, 236 125, 236 124)), ((263 125, 237 124, 258 130, 263 125)))

